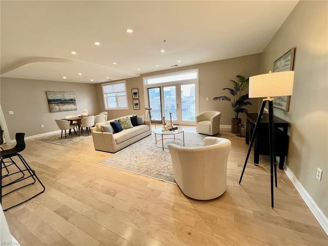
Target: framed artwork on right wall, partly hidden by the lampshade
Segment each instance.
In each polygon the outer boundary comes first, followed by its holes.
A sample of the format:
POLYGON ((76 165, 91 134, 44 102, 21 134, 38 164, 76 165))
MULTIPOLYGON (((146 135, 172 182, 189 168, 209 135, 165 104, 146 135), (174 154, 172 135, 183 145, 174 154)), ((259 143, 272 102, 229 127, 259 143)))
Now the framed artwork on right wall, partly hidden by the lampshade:
MULTIPOLYGON (((292 71, 294 66, 294 54, 295 48, 292 48, 275 60, 273 63, 273 72, 292 71)), ((273 107, 288 111, 290 97, 291 96, 275 96, 273 107)))

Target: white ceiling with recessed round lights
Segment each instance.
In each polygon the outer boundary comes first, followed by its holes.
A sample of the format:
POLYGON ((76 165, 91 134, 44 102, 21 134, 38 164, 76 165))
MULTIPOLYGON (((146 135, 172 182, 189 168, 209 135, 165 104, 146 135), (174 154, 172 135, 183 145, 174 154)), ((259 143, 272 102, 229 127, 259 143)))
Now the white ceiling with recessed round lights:
POLYGON ((1 77, 103 83, 260 53, 297 3, 1 1, 1 77))

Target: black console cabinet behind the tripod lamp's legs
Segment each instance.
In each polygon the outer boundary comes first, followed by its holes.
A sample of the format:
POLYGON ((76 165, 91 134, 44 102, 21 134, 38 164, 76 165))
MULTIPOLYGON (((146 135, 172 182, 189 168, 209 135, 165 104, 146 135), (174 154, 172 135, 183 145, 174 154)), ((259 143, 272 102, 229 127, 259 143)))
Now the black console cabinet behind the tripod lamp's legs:
MULTIPOLYGON (((257 119, 257 113, 247 113, 247 123, 245 130, 246 144, 252 137, 253 130, 257 119)), ((283 169, 285 155, 288 150, 289 137, 288 122, 274 116, 275 140, 276 140, 276 156, 279 156, 279 169, 283 169)), ((263 114, 258 134, 254 140, 254 163, 258 164, 259 155, 270 155, 269 150, 269 114, 263 114)))

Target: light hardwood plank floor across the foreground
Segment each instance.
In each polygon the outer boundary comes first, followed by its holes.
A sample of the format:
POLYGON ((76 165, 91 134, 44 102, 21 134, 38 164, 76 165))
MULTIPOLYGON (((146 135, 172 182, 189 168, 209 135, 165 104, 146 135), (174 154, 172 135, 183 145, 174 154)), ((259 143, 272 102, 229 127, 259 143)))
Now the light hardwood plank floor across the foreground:
MULTIPOLYGON (((96 164, 111 154, 95 151, 92 137, 68 146, 26 140, 22 155, 46 191, 5 212, 10 231, 21 245, 328 245, 283 171, 274 209, 269 166, 254 166, 252 154, 239 185, 248 146, 229 129, 221 129, 221 137, 232 141, 228 187, 209 201, 190 199, 172 183, 96 164)), ((3 207, 33 189, 6 196, 3 207)))

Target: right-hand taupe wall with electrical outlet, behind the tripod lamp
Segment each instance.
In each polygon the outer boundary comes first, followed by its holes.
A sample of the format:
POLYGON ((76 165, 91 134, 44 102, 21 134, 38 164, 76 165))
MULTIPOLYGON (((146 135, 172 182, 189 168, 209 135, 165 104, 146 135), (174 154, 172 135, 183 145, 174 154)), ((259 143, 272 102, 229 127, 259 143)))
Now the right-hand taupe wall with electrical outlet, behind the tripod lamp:
MULTIPOLYGON (((275 116, 290 122, 287 163, 328 217, 328 2, 300 1, 261 55, 261 73, 291 48, 295 81, 290 110, 275 116), (323 171, 321 182, 317 168, 323 171)), ((286 204, 286 206, 289 206, 286 204)))

